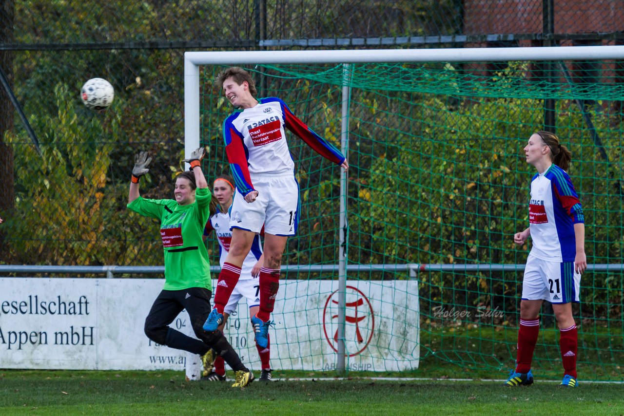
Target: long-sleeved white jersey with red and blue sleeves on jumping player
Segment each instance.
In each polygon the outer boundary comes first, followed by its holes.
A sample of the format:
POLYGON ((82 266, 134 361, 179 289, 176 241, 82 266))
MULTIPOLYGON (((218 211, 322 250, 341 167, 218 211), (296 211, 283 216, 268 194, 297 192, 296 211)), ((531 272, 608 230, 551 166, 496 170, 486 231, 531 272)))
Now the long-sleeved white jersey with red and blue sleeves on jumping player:
POLYGON ((288 150, 285 127, 331 162, 344 162, 344 156, 295 117, 282 100, 258 99, 255 107, 236 110, 223 122, 225 152, 236 190, 243 196, 256 190, 254 175, 294 175, 295 163, 288 150))

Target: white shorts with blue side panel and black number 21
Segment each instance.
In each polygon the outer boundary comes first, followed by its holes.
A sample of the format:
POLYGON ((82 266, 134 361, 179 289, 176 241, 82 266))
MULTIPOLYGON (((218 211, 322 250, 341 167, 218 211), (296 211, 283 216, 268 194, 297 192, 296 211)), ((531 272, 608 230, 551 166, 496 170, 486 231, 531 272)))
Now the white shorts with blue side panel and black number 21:
POLYGON ((581 275, 573 261, 547 261, 529 254, 522 280, 522 299, 550 303, 578 303, 581 275))

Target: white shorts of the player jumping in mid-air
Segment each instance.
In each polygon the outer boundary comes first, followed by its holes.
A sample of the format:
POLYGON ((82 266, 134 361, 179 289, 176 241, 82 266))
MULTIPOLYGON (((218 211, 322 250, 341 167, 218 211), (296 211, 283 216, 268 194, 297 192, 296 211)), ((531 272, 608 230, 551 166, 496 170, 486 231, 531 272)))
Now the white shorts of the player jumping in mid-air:
POLYGON ((293 236, 299 224, 299 184, 294 176, 253 177, 258 191, 255 201, 248 203, 240 192, 234 195, 230 211, 230 229, 279 236, 293 236))

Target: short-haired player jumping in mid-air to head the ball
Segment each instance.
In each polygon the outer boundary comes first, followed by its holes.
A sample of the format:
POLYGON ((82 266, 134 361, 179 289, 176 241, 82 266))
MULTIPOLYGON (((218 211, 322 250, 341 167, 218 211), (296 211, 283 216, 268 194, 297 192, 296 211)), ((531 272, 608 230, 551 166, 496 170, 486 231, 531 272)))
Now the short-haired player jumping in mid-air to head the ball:
POLYGON ((275 297, 280 284, 281 257, 286 240, 297 232, 299 185, 295 163, 288 150, 285 128, 313 150, 347 170, 346 158, 333 145, 295 117, 282 100, 256 99, 251 75, 230 67, 216 83, 237 110, 223 122, 223 138, 236 193, 230 215, 232 242, 215 291, 215 308, 204 324, 217 331, 223 311, 241 274, 241 266, 256 234, 264 225, 264 261, 260 269, 260 309, 251 317, 256 342, 268 346, 275 297))

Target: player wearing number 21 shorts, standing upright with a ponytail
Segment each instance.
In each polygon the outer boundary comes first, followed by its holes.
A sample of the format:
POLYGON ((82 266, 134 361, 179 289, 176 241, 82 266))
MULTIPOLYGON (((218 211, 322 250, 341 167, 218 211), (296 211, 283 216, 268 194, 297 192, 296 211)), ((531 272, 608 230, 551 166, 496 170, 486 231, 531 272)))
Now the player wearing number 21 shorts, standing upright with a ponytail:
POLYGON ((533 384, 531 361, 540 329, 539 314, 542 302, 548 301, 559 327, 561 385, 576 387, 578 337, 572 302, 579 302, 587 257, 583 208, 566 173, 572 157, 556 135, 544 131, 529 137, 524 153, 537 174, 531 180, 529 228, 516 233, 514 241, 522 245, 530 236, 533 246, 522 279, 517 365, 505 385, 533 384))

